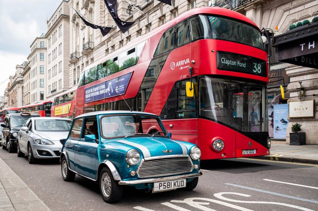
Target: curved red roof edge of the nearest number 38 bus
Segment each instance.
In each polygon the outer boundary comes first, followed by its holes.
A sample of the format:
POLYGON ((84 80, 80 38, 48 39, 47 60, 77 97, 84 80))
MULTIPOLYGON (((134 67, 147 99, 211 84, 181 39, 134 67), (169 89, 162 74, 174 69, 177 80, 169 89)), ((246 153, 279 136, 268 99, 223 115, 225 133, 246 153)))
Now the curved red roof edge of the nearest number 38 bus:
POLYGON ((172 19, 171 21, 163 24, 162 26, 151 30, 149 33, 142 35, 140 37, 137 37, 136 39, 130 41, 125 45, 124 47, 115 50, 114 52, 108 54, 106 57, 101 58, 100 60, 93 62, 92 64, 88 65, 87 67, 84 68, 84 70, 90 69, 92 67, 95 67, 97 64, 103 63, 107 61, 108 59, 111 59, 112 57, 118 55, 120 52, 123 52, 125 50, 128 50, 129 48, 134 47, 136 44, 147 40, 149 37, 152 37, 162 31, 165 31, 166 29, 176 25, 177 23, 185 20, 186 18, 194 15, 199 15, 199 14, 209 14, 209 15, 216 15, 216 16, 225 16, 225 17, 230 17, 233 19, 237 19, 239 21, 245 22, 249 25, 254 26, 255 28, 258 28, 258 26, 249 18, 247 18, 245 15, 242 15, 238 12, 235 12, 233 10, 225 9, 225 8, 219 8, 219 7, 199 7, 199 8, 194 8, 192 10, 188 10, 185 13, 183 13, 180 16, 177 16, 176 18, 172 19))

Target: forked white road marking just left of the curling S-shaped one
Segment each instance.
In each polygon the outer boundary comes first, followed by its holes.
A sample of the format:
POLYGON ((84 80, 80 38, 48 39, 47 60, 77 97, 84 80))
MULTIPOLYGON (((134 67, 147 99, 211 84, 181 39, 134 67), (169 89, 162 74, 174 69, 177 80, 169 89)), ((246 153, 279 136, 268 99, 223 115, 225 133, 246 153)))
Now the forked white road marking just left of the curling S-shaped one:
POLYGON ((187 198, 187 199, 184 199, 183 201, 172 200, 171 202, 186 203, 186 204, 188 204, 188 205, 190 205, 192 207, 195 207, 195 208, 198 208, 198 209, 201 209, 201 210, 204 210, 204 211, 215 211, 214 209, 210 209, 210 208, 202 206, 202 205, 208 205, 210 203, 200 202, 200 201, 193 201, 193 200, 210 201, 210 202, 213 202, 213 203, 216 203, 216 204, 221 204, 221 205, 224 205, 226 207, 238 209, 238 210, 241 210, 241 211, 253 211, 251 209, 240 207, 240 206, 237 206, 237 205, 234 205, 234 204, 230 204, 230 203, 227 203, 227 202, 224 202, 224 201, 218 201, 218 200, 215 200, 215 199, 208 199, 208 198, 187 198))

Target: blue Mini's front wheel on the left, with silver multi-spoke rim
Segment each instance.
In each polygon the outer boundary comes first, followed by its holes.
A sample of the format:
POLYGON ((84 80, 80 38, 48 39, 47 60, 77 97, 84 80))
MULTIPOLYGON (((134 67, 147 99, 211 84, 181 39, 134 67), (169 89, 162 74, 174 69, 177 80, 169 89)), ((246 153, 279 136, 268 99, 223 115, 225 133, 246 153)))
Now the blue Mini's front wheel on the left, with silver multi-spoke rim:
POLYGON ((121 199, 122 186, 115 181, 112 173, 107 167, 100 172, 99 177, 100 193, 107 203, 115 203, 121 199))

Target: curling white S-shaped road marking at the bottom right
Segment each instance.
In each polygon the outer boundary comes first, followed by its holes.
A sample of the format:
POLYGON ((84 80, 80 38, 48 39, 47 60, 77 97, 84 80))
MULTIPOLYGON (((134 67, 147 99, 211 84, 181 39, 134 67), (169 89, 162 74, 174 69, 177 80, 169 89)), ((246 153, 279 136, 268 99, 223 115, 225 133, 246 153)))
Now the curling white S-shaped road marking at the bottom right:
POLYGON ((232 201, 232 202, 237 202, 237 203, 252 203, 252 204, 277 204, 277 205, 282 205, 286 207, 291 207, 291 208, 296 208, 304 211, 314 211, 308 208, 303 208, 299 207, 297 205, 292 205, 292 204, 286 204, 286 203, 280 203, 280 202, 271 202, 271 201, 240 201, 240 200, 234 200, 234 199, 229 199, 223 196, 223 194, 233 194, 233 195, 240 195, 240 196, 245 196, 245 197, 250 197, 250 195, 246 194, 241 194, 241 193, 232 193, 232 192, 221 192, 221 193, 216 193, 214 194, 215 197, 221 200, 225 201, 232 201))

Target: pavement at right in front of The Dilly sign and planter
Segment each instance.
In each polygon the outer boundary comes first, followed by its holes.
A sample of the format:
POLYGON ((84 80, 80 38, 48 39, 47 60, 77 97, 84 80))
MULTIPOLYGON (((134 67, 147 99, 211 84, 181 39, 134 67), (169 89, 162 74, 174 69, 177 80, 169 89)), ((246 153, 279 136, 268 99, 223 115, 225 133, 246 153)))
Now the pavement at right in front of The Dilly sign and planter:
POLYGON ((255 158, 294 163, 318 164, 318 145, 308 144, 298 146, 272 143, 270 151, 270 155, 255 158))

